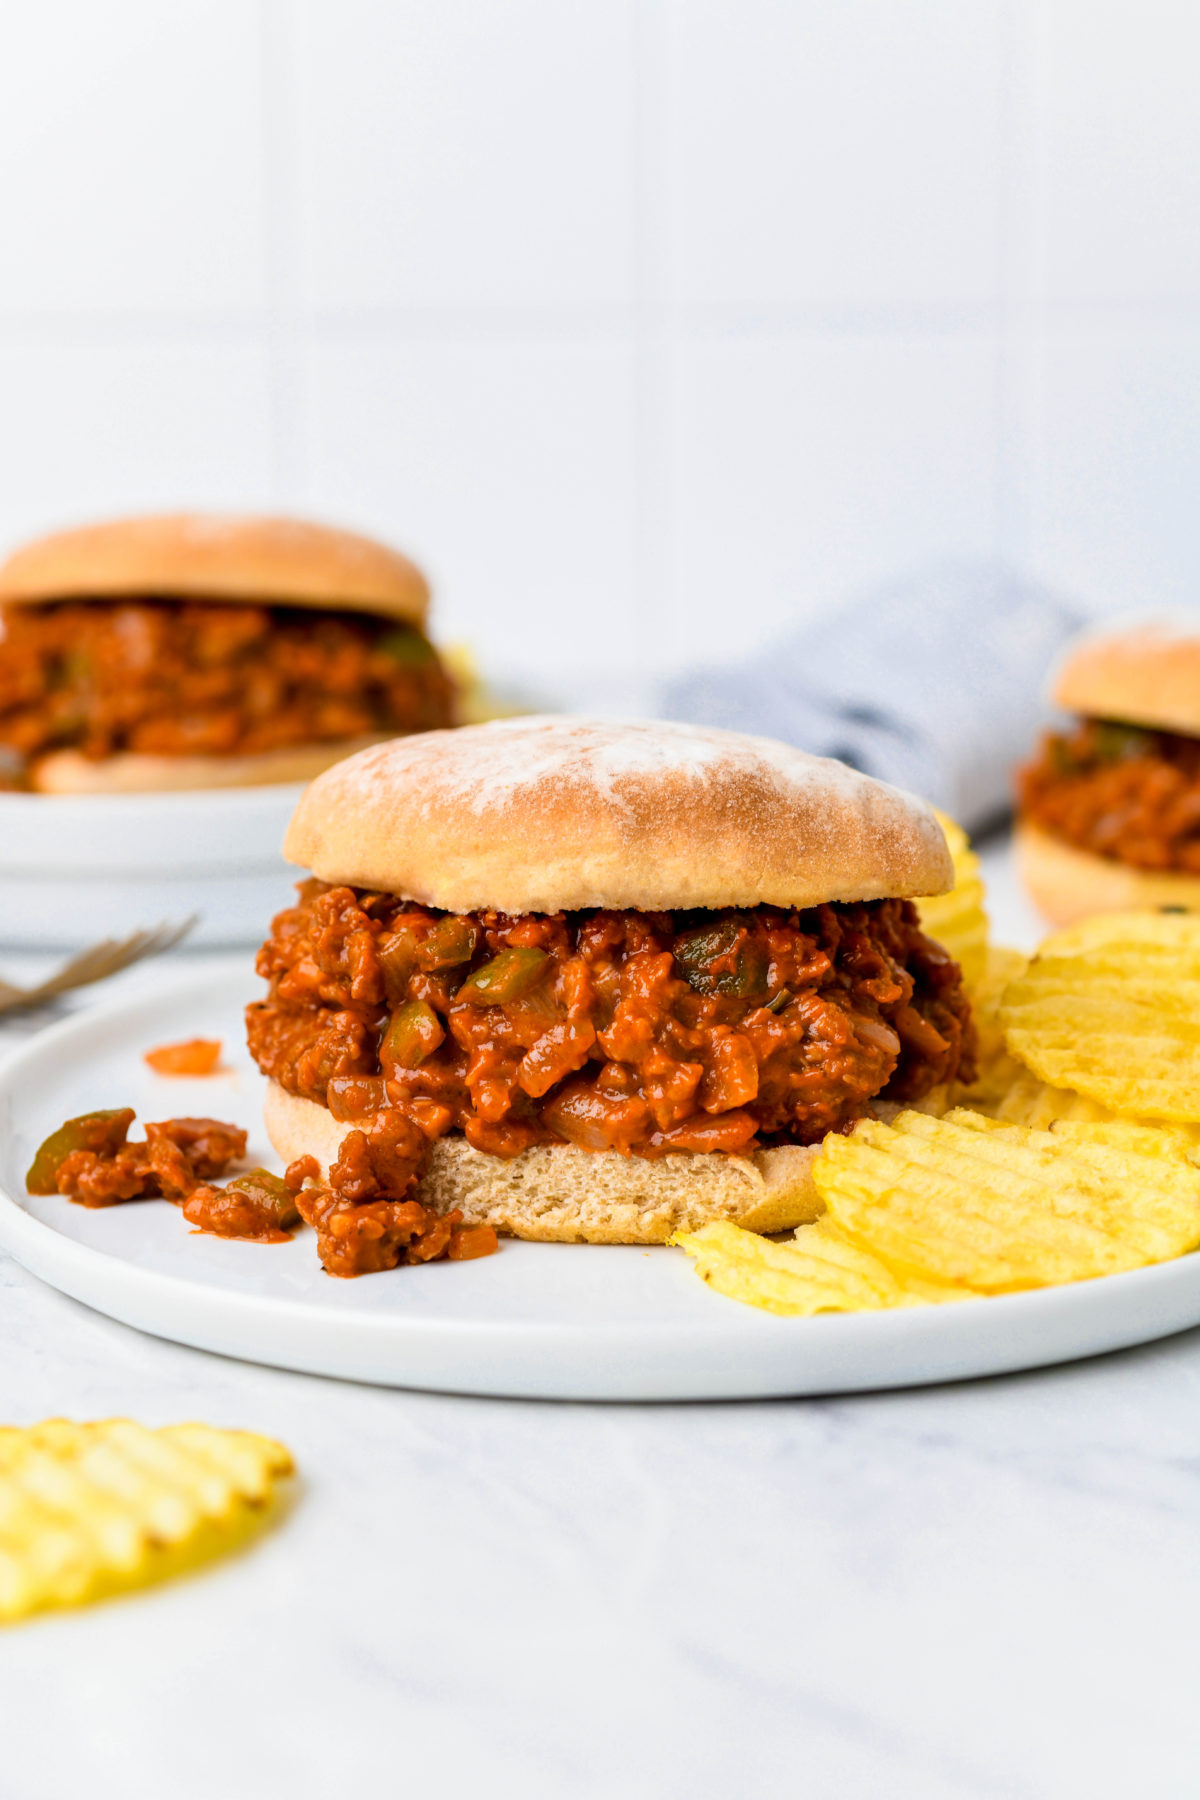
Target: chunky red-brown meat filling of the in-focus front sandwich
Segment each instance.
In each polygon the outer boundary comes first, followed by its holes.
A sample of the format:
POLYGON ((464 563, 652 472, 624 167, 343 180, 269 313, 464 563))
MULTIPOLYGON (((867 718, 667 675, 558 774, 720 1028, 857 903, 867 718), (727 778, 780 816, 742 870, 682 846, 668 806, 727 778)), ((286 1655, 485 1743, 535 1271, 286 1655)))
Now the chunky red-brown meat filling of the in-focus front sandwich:
POLYGON ((448 1130, 745 1154, 973 1075, 959 967, 907 900, 507 916, 306 882, 257 968, 259 1067, 335 1118, 396 1114, 394 1195, 448 1130))

